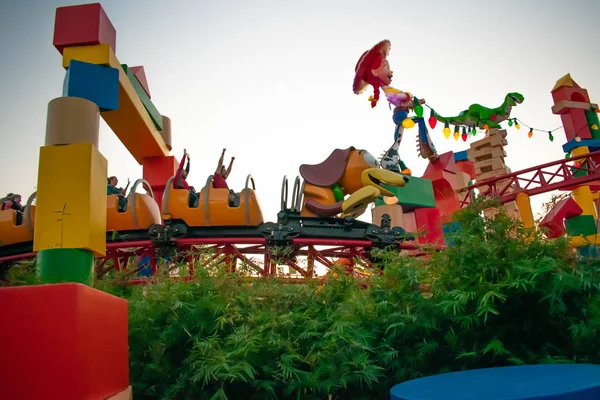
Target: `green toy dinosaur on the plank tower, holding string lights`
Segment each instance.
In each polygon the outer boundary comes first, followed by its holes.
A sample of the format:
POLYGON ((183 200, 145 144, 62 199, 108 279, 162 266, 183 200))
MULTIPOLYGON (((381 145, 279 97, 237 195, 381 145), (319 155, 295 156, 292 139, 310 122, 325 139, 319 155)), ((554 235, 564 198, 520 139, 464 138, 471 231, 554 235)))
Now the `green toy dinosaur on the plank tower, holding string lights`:
POLYGON ((435 113, 435 118, 443 123, 451 125, 463 125, 484 129, 498 128, 500 123, 510 118, 510 112, 514 106, 521 104, 525 100, 520 93, 509 93, 504 98, 504 103, 500 107, 488 108, 481 104, 471 104, 468 110, 462 111, 456 117, 442 117, 435 113))

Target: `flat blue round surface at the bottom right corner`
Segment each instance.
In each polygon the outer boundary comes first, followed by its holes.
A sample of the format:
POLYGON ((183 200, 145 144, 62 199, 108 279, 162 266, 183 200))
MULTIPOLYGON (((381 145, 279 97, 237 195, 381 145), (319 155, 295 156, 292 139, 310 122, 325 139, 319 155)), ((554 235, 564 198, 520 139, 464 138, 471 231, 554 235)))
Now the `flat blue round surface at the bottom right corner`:
POLYGON ((598 400, 600 365, 540 364, 452 372, 394 386, 392 400, 598 400))

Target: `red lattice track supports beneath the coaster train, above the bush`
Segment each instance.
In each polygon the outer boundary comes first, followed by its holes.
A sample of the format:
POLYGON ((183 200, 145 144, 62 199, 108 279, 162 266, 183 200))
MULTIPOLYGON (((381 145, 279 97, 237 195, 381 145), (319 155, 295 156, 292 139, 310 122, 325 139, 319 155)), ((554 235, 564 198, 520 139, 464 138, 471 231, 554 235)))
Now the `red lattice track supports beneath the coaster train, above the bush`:
MULTIPOLYGON (((352 275, 361 276, 361 267, 372 267, 370 240, 342 240, 319 238, 296 238, 287 249, 274 249, 266 238, 180 238, 170 243, 170 249, 161 248, 152 240, 107 243, 106 256, 96 260, 96 276, 103 278, 110 271, 133 275, 148 268, 148 275, 155 275, 165 265, 193 268, 209 267, 222 262, 229 271, 244 269, 248 277, 281 277, 285 282, 297 283, 316 278, 317 269, 331 269, 336 259, 348 260, 343 267, 352 275), (170 251, 169 251, 170 250, 170 251), (279 253, 278 253, 279 251, 279 253), (281 267, 287 267, 285 272, 281 267)), ((414 242, 399 244, 401 254, 423 257, 430 251, 444 246, 428 246, 427 249, 414 242)), ((0 262, 17 263, 31 260, 35 253, 26 252, 0 258, 0 262)), ((285 268, 284 268, 285 269, 285 268)), ((129 284, 144 284, 154 278, 133 278, 129 284)))

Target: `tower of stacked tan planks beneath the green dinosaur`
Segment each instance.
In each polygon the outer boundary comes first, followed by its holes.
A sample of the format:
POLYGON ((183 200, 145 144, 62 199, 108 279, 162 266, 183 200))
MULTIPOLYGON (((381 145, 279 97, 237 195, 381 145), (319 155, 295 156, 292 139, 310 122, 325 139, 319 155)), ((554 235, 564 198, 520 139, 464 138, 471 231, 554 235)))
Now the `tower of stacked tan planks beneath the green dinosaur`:
MULTIPOLYGON (((489 129, 486 137, 473 142, 470 149, 467 150, 469 158, 473 161, 475 167, 475 179, 483 181, 485 179, 495 178, 509 174, 510 168, 504 163, 506 157, 506 151, 504 146, 508 144, 506 140, 507 132, 504 129, 489 129)), ((496 182, 498 189, 505 187, 509 184, 508 180, 496 182)), ((488 186, 480 186, 480 193, 484 193, 488 190, 488 186)), ((509 189, 509 192, 513 188, 509 189)), ((516 203, 510 202, 503 205, 509 215, 513 217, 518 216, 518 210, 516 203)), ((484 215, 486 217, 493 217, 496 212, 494 210, 485 210, 484 215)))

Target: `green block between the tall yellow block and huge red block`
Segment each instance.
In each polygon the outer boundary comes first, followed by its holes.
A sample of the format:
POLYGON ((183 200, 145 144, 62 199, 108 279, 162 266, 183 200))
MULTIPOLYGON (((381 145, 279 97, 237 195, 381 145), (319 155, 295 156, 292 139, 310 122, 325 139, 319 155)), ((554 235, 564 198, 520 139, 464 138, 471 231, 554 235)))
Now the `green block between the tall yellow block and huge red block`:
POLYGON ((94 281, 94 253, 81 249, 46 249, 37 254, 40 278, 48 283, 94 281))

